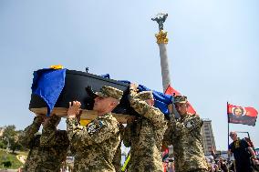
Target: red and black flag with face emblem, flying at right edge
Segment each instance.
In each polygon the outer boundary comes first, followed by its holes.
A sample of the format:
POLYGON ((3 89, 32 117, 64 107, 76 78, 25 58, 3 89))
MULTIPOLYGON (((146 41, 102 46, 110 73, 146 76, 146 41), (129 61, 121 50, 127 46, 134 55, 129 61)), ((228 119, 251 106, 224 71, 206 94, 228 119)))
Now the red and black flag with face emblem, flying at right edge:
POLYGON ((227 114, 229 123, 255 126, 258 112, 254 107, 233 106, 228 104, 227 114))

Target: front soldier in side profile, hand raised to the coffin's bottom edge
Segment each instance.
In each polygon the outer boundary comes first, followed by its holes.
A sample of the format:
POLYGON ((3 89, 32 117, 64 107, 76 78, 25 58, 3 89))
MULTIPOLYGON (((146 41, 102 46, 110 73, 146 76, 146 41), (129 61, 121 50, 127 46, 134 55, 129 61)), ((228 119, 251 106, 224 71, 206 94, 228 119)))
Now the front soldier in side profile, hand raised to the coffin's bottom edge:
POLYGON ((93 172, 115 172, 112 159, 119 146, 119 123, 111 111, 119 105, 123 92, 111 86, 102 86, 95 93, 93 109, 98 117, 87 126, 80 126, 80 102, 69 102, 67 110, 67 134, 71 147, 76 151, 74 170, 93 172))

